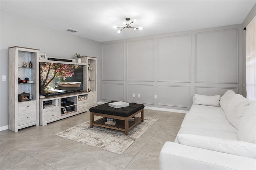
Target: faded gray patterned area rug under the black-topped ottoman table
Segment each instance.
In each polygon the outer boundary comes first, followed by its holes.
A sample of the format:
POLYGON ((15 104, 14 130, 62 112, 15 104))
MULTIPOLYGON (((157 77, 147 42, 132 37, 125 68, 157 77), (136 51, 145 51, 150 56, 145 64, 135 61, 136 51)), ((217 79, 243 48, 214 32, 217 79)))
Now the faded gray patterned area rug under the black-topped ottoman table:
POLYGON ((58 132, 55 135, 101 148, 115 154, 122 154, 157 120, 158 118, 144 117, 144 122, 140 122, 133 127, 127 136, 124 134, 124 131, 120 130, 112 130, 96 126, 90 128, 89 121, 58 132))

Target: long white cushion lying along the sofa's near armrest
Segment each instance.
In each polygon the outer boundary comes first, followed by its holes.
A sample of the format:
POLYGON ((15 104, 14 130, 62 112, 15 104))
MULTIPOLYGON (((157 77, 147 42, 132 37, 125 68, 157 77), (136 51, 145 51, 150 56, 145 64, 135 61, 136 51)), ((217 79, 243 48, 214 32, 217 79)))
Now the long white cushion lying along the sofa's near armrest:
POLYGON ((256 145, 240 140, 229 140, 214 138, 209 136, 200 136, 194 134, 178 134, 179 144, 215 150, 228 154, 240 155, 249 158, 256 158, 256 145))

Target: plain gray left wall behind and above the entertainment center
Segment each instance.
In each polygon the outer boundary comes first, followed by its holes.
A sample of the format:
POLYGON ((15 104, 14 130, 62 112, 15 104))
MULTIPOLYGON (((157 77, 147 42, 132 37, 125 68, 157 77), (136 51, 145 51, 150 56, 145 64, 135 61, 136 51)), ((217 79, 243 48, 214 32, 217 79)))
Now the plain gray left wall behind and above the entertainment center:
MULTIPOLYGON (((46 28, 34 23, 10 18, 1 13, 1 83, 0 83, 0 127, 8 125, 8 81, 2 81, 2 75, 8 80, 8 47, 21 46, 40 49, 52 57, 75 58, 75 53, 98 58, 98 72, 101 73, 101 43, 86 38, 46 28)), ((98 79, 101 80, 98 74, 98 79)), ((98 81, 98 89, 101 89, 98 81)), ((100 93, 98 93, 100 100, 100 93)))

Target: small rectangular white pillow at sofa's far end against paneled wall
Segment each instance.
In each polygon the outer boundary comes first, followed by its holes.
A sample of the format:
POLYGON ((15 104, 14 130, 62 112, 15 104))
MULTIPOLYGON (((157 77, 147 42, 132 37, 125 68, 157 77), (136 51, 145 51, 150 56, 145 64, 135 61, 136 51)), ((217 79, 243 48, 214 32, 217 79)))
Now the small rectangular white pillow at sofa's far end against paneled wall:
POLYGON ((195 94, 195 105, 220 106, 220 95, 206 96, 195 94))

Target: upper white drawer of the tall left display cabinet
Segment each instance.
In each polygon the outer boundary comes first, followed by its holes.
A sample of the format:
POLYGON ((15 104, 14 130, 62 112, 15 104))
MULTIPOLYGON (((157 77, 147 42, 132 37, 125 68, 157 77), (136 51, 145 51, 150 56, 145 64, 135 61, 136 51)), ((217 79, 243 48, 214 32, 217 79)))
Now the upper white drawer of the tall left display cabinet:
POLYGON ((27 114, 36 115, 36 101, 24 101, 19 102, 18 104, 18 115, 27 115, 27 114))

